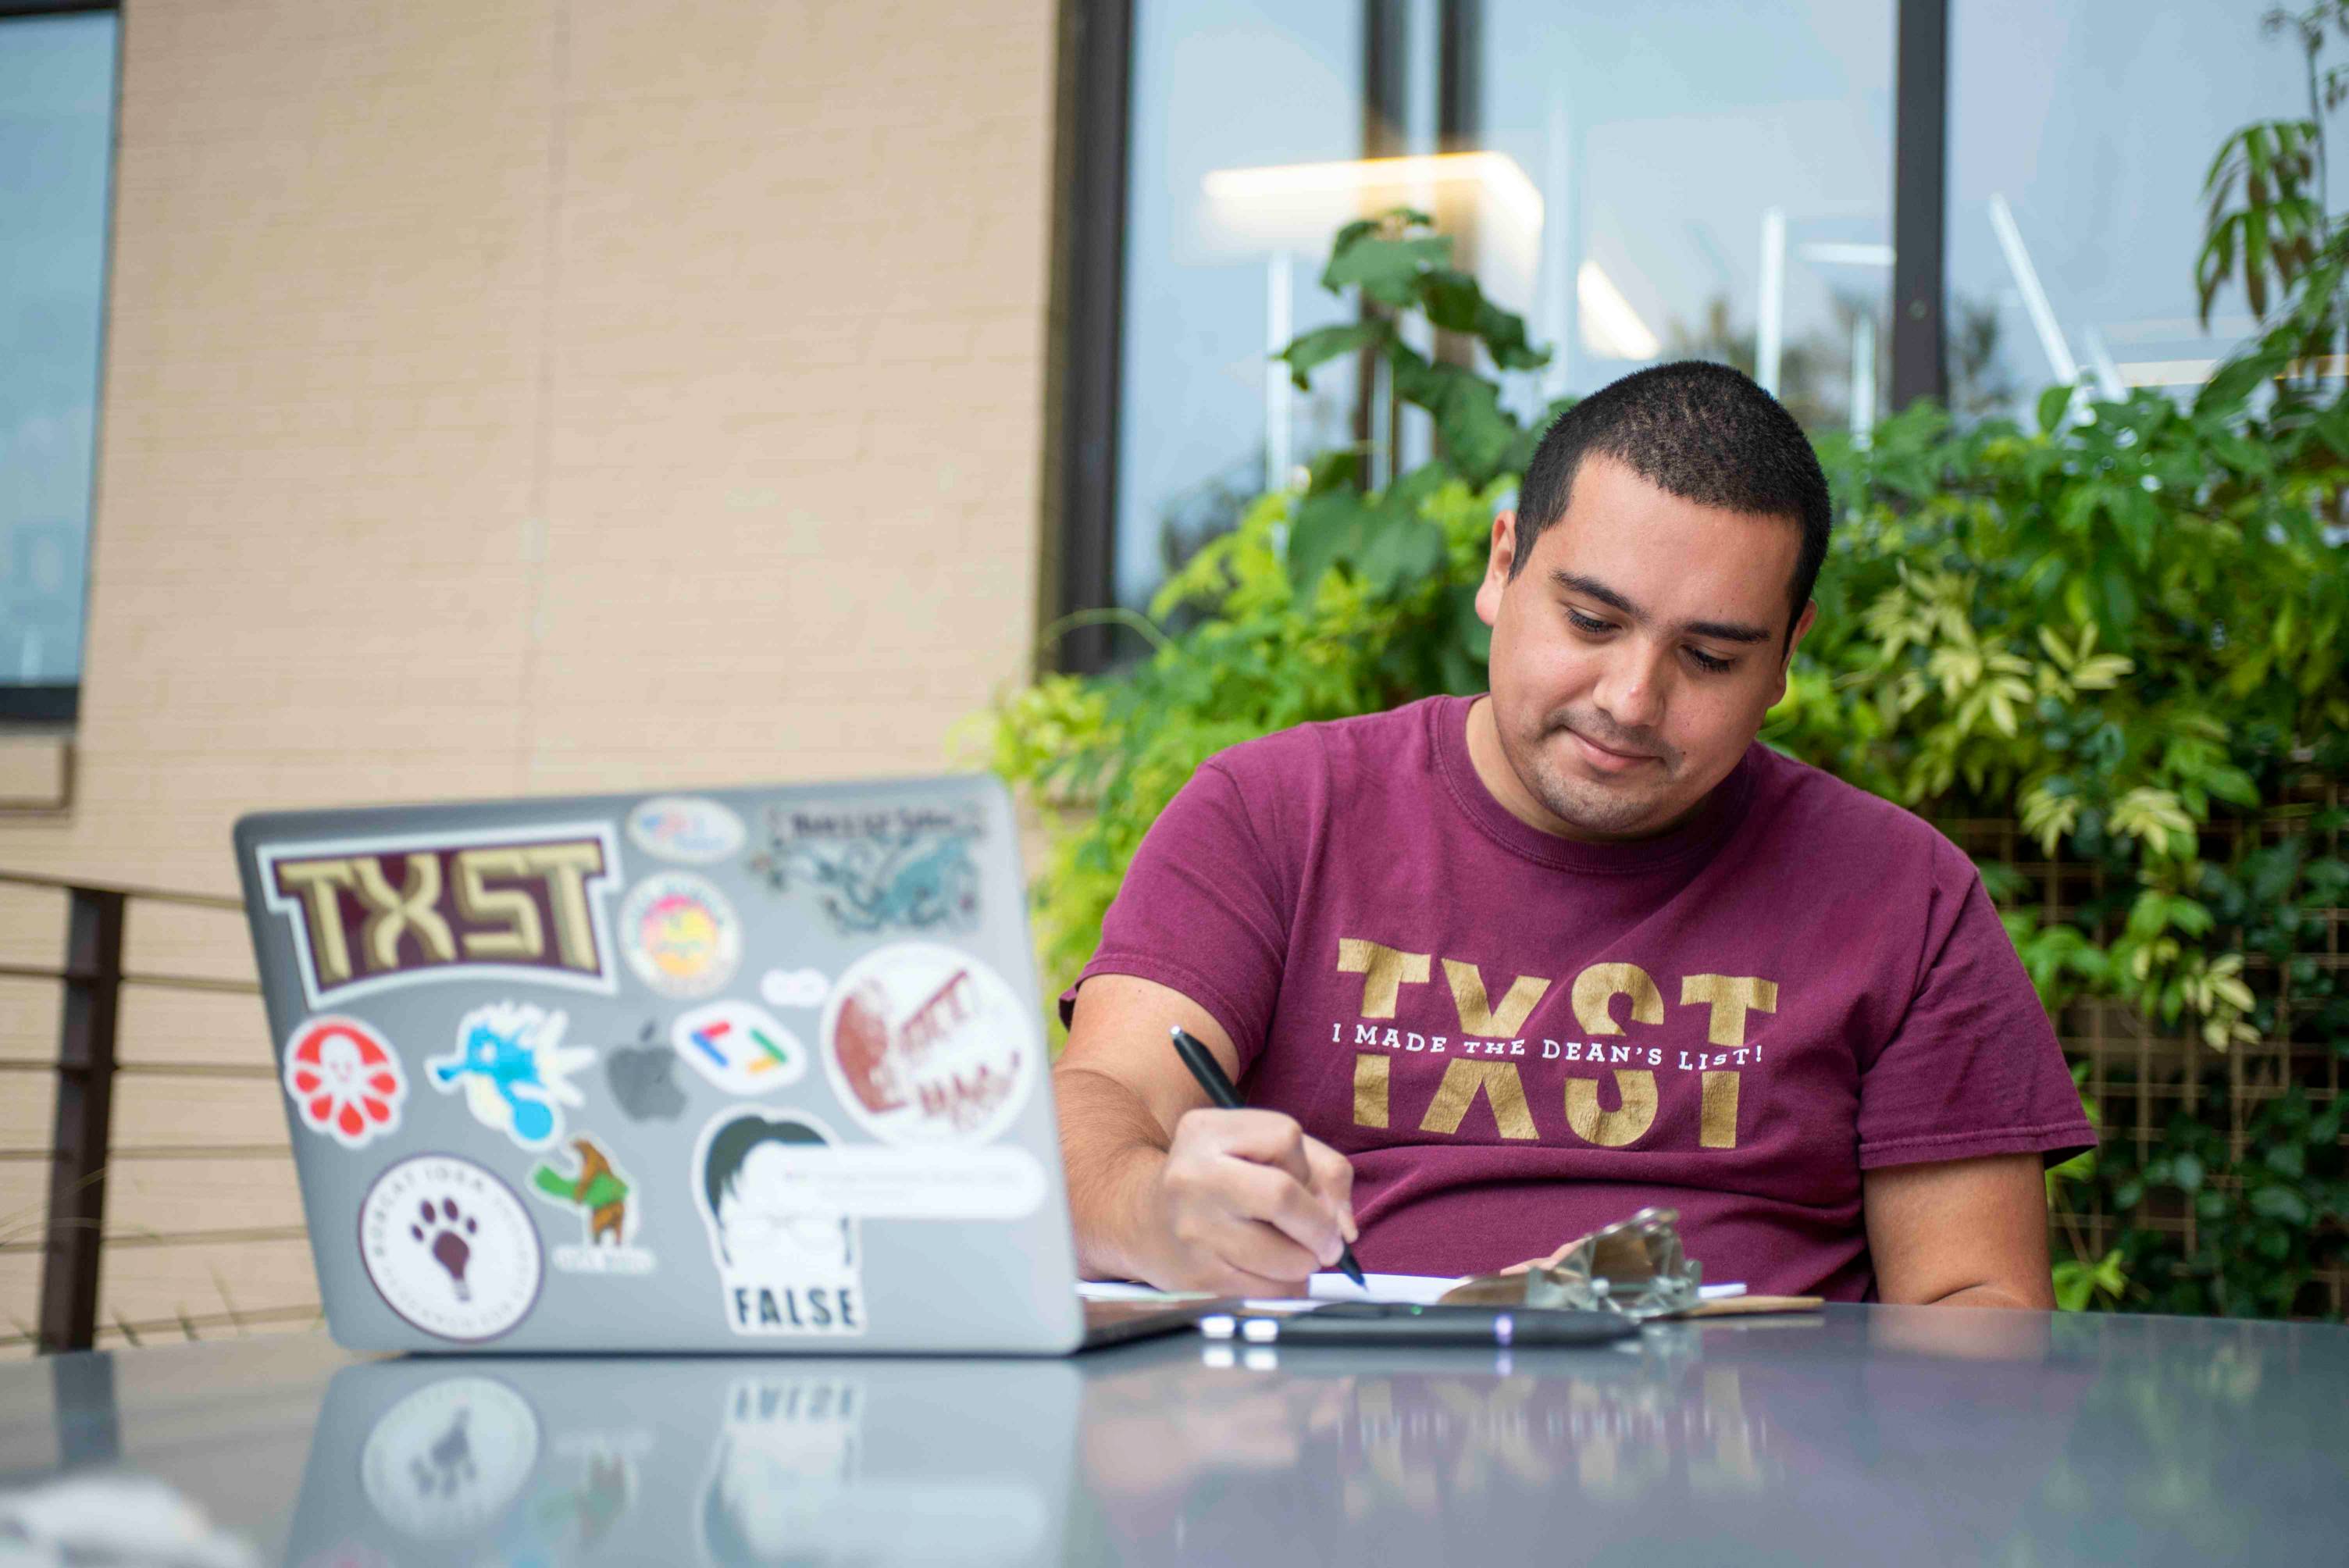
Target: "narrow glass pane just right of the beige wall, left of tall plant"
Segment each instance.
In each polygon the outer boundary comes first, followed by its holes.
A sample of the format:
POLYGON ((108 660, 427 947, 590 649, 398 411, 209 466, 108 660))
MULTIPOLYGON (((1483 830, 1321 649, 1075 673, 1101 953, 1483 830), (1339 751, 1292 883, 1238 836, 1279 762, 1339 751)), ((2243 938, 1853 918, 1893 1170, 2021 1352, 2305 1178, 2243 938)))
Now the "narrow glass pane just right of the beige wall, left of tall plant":
POLYGON ((1214 174, 1360 157, 1360 0, 1137 0, 1118 406, 1118 601, 1351 439, 1353 376, 1292 392, 1266 352, 1351 322, 1332 225, 1214 174))

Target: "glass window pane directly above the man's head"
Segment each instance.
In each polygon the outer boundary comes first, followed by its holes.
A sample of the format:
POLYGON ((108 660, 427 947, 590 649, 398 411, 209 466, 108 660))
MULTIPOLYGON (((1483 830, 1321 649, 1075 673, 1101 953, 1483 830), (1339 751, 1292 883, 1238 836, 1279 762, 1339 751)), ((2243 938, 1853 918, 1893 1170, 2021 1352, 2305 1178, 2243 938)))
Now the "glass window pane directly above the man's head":
POLYGON ((1541 394, 1722 359, 1806 427, 1891 378, 1893 0, 1487 0, 1480 146, 1541 192, 1534 277, 1487 277, 1541 394), (1522 289, 1522 291, 1520 291, 1522 289))

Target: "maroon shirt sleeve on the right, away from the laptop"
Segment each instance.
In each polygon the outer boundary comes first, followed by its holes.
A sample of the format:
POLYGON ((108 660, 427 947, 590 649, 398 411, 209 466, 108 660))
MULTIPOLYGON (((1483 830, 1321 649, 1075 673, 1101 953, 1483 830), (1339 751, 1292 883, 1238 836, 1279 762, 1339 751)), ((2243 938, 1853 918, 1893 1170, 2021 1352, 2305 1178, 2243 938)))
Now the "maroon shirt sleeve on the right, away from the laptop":
POLYGON ((1954 847, 1938 861, 1917 988, 1860 1070, 1860 1169, 2022 1153, 2053 1164, 2095 1148, 1980 873, 1954 847))

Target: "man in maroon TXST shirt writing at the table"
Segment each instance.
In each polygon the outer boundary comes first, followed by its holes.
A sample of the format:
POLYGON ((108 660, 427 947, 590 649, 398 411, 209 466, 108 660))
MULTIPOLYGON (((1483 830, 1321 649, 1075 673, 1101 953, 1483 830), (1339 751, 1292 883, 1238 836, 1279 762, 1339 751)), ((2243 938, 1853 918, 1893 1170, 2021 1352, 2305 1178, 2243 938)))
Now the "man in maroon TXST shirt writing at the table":
POLYGON ((1198 770, 1062 998, 1088 1275, 1463 1275, 1668 1204, 1708 1279, 2053 1305, 2041 1167, 2093 1134, 1973 864, 1755 742, 1828 523, 1769 394, 1642 371, 1494 519, 1492 695, 1198 770))

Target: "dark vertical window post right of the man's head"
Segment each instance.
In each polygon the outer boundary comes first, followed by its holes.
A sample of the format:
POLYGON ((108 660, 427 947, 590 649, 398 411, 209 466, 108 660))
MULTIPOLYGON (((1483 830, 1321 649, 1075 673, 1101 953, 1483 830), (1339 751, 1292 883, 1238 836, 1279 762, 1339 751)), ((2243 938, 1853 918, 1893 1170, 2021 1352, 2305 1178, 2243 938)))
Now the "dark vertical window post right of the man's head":
POLYGON ((1893 408, 1905 408, 1950 397, 1940 326, 1950 0, 1900 0, 1893 56, 1893 408))

